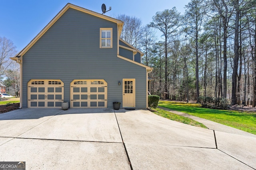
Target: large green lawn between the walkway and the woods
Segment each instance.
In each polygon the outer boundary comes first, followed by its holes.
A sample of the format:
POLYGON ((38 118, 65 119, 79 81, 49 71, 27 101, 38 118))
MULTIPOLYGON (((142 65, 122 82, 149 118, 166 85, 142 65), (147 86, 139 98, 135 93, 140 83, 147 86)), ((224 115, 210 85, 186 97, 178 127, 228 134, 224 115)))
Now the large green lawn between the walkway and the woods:
POLYGON ((159 105, 256 135, 256 113, 202 108, 200 104, 160 101, 159 105))

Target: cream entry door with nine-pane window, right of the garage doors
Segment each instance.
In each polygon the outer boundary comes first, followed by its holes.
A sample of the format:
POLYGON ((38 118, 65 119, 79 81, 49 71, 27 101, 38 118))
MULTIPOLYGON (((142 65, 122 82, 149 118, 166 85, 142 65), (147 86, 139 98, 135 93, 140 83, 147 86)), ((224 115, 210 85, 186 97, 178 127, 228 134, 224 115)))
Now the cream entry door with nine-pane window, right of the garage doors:
POLYGON ((135 107, 135 79, 123 79, 123 107, 135 107))

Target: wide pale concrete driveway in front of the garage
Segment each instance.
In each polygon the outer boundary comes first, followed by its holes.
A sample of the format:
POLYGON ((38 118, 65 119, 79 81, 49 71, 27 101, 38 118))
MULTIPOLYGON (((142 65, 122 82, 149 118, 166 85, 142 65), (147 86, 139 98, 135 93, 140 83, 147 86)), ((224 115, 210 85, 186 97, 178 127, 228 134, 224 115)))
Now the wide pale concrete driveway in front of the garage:
POLYGON ((148 110, 0 114, 0 161, 27 169, 256 169, 256 135, 202 129, 148 110))

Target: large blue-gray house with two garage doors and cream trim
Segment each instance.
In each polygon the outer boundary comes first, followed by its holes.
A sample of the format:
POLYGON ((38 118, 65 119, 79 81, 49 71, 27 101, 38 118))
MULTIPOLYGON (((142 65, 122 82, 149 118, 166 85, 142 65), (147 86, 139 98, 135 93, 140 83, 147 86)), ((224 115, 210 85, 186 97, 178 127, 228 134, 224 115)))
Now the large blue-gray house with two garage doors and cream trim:
POLYGON ((20 107, 146 108, 144 55, 120 39, 123 22, 67 4, 12 60, 20 63, 20 107))

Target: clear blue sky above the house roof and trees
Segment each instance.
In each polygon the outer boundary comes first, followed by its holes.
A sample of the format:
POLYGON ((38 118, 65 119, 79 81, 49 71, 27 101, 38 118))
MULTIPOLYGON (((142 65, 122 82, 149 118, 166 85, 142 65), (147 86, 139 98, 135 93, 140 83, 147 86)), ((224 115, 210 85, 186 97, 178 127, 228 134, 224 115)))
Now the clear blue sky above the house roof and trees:
POLYGON ((158 11, 171 9, 185 12, 190 0, 0 0, 0 37, 10 39, 21 51, 54 18, 67 3, 102 13, 101 5, 112 10, 106 16, 126 14, 140 18, 143 25, 152 21, 158 11))

